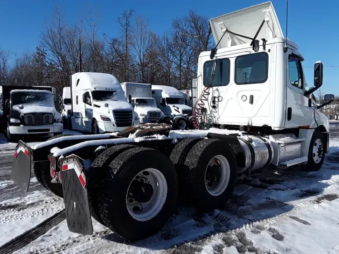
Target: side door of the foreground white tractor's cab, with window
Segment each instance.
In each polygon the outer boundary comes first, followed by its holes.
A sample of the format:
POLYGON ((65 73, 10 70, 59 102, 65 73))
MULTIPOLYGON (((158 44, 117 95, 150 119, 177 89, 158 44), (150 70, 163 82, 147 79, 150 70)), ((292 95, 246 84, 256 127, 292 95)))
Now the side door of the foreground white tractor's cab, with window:
MULTIPOLYGON (((296 50, 286 53, 286 116, 285 128, 311 124, 311 107, 304 96, 306 81, 302 69, 302 57, 296 50)), ((313 110, 312 110, 313 111, 313 110)))

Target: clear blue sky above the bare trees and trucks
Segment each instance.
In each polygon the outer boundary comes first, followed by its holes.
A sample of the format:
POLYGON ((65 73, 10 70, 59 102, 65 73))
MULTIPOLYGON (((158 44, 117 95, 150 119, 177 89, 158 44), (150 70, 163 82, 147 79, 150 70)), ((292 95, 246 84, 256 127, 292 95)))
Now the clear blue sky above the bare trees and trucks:
MULTIPOLYGON (((233 12, 265 0, 239 1, 115 1, 115 0, 1 0, 0 1, 0 48, 12 52, 34 51, 39 44, 40 31, 44 20, 51 15, 53 7, 58 5, 70 24, 78 20, 79 14, 87 12, 100 13, 99 33, 105 32, 109 37, 118 34, 117 17, 125 10, 134 9, 149 20, 150 29, 157 34, 164 33, 173 18, 182 17, 190 9, 199 14, 213 18, 233 12)), ((273 0, 273 5, 285 34, 286 1, 273 0)), ((289 0, 288 37, 299 45, 304 56, 304 66, 313 66, 321 60, 325 66, 339 65, 339 1, 337 0, 289 0)), ((306 80, 310 86, 313 82, 313 69, 305 68, 306 80)), ((339 68, 324 69, 322 90, 326 93, 339 94, 337 82, 339 68)))

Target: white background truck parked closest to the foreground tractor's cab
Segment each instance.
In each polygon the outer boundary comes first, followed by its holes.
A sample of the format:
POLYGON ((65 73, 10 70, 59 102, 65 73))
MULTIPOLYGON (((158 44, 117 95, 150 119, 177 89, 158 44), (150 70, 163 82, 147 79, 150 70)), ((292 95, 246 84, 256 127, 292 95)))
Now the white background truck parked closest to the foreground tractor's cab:
POLYGON ((152 97, 165 115, 192 114, 192 108, 185 104, 182 93, 174 87, 152 85, 152 97))

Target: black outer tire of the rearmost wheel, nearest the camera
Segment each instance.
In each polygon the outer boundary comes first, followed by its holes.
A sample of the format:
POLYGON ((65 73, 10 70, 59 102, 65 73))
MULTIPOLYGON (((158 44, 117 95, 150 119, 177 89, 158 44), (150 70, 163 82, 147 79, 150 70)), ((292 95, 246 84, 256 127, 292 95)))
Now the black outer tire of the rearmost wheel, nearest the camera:
MULTIPOLYGON (((100 192, 98 198, 99 213, 104 224, 131 241, 157 233, 172 215, 177 202, 177 174, 173 163, 157 150, 138 147, 121 153, 108 168, 110 176, 105 179, 102 186, 104 191, 100 192), (138 174, 146 175, 147 169, 158 170, 166 179, 167 196, 157 214, 147 220, 140 220, 128 209, 127 201, 130 200, 128 193, 132 181, 136 181, 138 174)), ((154 193, 157 192, 158 189, 154 193)))

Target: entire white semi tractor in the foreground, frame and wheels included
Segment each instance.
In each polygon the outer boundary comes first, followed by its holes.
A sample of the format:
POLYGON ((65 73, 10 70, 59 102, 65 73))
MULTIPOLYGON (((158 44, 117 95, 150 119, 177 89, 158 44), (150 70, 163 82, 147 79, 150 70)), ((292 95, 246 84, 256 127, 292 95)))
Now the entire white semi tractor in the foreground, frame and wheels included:
POLYGON ((312 96, 322 85, 322 63, 309 87, 299 48, 284 38, 270 2, 210 26, 217 47, 198 58, 195 130, 144 124, 102 137, 19 142, 12 179, 27 192, 33 165, 63 196, 70 231, 91 234, 93 217, 134 241, 157 233, 178 197, 200 211, 224 206, 239 173, 319 170, 329 127, 317 109, 334 99, 327 94, 317 106, 312 96))

